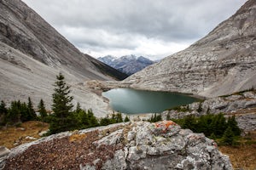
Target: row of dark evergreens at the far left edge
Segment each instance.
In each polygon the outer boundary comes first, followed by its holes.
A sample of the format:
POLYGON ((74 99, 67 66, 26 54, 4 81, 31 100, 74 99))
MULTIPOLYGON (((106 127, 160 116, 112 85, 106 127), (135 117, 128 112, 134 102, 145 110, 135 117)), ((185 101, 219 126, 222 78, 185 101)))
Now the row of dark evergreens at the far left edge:
POLYGON ((16 123, 37 120, 36 112, 33 109, 32 101, 28 98, 27 104, 20 100, 12 101, 7 108, 4 101, 0 105, 0 125, 15 125, 16 123))

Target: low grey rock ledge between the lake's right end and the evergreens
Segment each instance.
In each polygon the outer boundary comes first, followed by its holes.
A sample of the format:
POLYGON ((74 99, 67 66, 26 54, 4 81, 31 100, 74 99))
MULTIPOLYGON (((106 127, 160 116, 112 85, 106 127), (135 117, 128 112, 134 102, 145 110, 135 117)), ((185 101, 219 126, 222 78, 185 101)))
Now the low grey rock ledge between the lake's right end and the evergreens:
POLYGON ((176 109, 163 111, 163 120, 167 115, 170 118, 179 119, 184 116, 202 116, 207 114, 224 113, 225 116, 236 116, 238 127, 243 133, 256 130, 256 90, 240 92, 228 96, 220 96, 183 105, 176 109), (201 109, 200 109, 201 108, 201 109))

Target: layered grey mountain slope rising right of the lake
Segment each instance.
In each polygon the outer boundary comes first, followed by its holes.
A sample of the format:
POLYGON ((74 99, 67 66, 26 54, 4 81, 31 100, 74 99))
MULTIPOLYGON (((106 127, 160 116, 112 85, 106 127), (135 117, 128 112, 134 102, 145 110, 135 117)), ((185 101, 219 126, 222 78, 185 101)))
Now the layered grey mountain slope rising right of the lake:
POLYGON ((189 48, 125 79, 131 88, 214 97, 256 86, 256 1, 189 48))

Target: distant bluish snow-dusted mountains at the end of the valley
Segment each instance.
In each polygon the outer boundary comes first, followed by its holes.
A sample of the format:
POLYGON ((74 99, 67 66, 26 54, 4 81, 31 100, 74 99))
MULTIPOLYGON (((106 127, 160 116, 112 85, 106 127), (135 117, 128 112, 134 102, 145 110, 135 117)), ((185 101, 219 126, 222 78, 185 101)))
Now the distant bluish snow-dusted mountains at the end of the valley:
POLYGON ((98 59, 127 75, 132 75, 137 71, 143 70, 148 65, 154 64, 154 61, 150 59, 143 56, 137 57, 135 55, 125 55, 118 59, 111 55, 107 55, 98 59))

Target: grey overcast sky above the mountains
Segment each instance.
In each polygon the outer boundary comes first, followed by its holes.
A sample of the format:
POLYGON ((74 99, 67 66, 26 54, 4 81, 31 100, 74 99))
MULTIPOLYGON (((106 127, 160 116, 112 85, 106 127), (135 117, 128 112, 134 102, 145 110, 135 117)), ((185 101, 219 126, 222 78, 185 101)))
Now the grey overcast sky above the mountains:
POLYGON ((228 19, 246 0, 23 0, 83 53, 162 59, 228 19))

